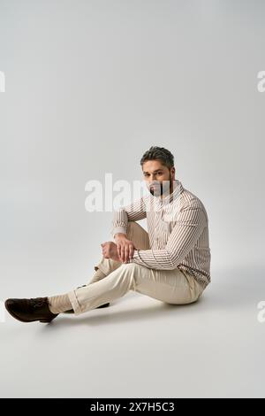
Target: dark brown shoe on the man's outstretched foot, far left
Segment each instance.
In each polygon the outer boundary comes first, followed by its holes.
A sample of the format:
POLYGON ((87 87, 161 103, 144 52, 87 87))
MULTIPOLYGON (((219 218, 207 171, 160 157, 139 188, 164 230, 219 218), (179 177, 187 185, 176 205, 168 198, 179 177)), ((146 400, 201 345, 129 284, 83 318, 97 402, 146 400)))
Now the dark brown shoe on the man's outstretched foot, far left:
POLYGON ((49 310, 48 297, 34 297, 30 299, 6 299, 4 302, 6 310, 16 320, 21 322, 50 322, 58 313, 49 310))

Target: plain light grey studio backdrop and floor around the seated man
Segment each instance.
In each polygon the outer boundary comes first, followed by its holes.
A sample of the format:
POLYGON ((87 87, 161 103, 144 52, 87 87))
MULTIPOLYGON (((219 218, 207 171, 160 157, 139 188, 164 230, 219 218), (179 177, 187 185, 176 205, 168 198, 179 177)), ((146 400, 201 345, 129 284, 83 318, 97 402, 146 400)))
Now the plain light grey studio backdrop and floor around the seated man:
MULTIPOLYGON (((0 0, 0 298, 85 284, 151 145, 208 211, 212 283, 50 325, 0 323, 1 397, 264 397, 262 1, 0 0)), ((144 223, 143 223, 144 224, 144 223)))

